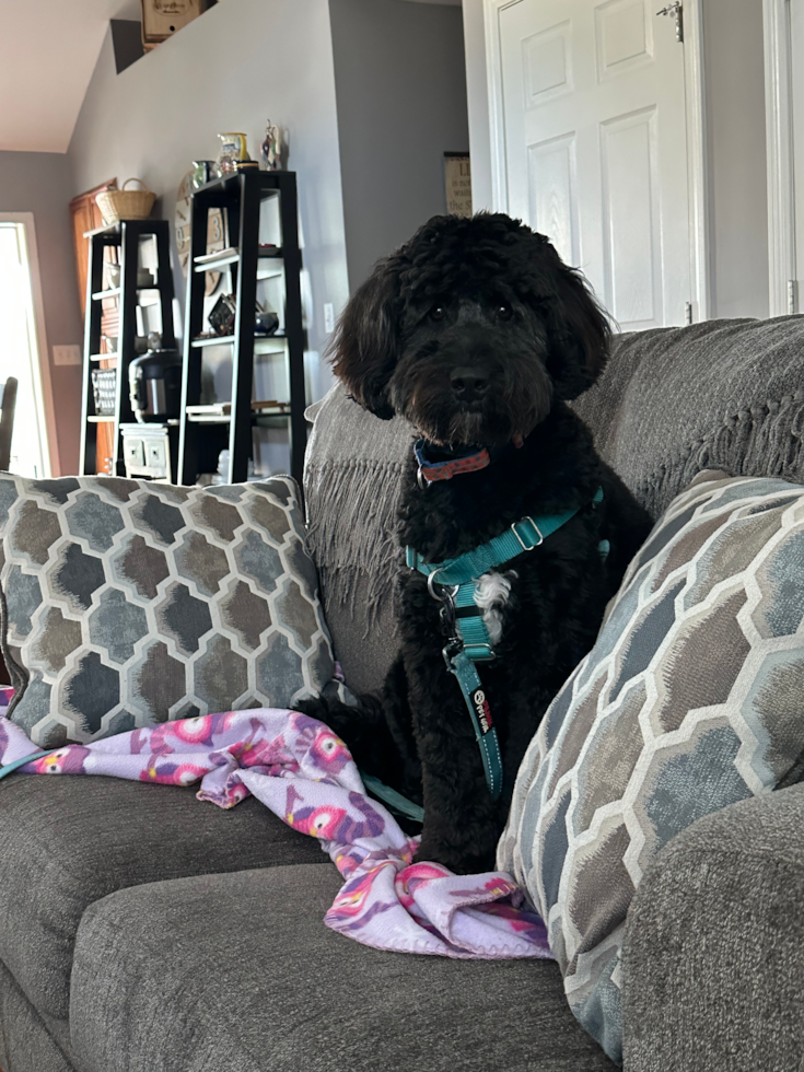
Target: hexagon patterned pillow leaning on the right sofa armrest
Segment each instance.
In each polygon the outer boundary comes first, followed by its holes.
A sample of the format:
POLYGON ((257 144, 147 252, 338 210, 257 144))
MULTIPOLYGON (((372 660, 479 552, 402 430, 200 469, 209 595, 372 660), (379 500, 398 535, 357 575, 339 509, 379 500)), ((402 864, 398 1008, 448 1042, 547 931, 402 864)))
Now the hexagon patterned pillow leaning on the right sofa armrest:
POLYGON ((614 1060, 645 867, 696 819, 801 779, 803 697, 804 487, 702 473, 548 709, 498 847, 547 924, 573 1013, 614 1060))

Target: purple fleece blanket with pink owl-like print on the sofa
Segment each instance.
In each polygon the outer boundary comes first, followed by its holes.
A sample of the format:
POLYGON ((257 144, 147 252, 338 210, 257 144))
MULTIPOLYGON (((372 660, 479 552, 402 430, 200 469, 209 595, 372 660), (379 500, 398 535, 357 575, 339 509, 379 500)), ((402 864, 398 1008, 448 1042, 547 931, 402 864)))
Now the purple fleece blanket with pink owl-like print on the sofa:
POLYGON ((0 718, 0 765, 35 757, 19 768, 25 774, 200 780, 198 799, 219 807, 253 794, 288 826, 321 840, 346 879, 324 921, 364 945, 464 958, 551 955, 544 923, 523 906, 510 875, 411 864, 417 839, 365 795, 343 742, 295 711, 210 714, 38 753, 0 718))

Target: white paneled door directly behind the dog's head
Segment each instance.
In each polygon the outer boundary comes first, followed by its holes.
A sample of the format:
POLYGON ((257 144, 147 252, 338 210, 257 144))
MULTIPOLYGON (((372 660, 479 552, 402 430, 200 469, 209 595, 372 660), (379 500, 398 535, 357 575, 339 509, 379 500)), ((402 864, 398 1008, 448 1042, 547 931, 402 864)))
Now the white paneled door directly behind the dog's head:
POLYGON ((624 331, 692 312, 685 46, 657 5, 496 13, 508 211, 584 271, 624 331))

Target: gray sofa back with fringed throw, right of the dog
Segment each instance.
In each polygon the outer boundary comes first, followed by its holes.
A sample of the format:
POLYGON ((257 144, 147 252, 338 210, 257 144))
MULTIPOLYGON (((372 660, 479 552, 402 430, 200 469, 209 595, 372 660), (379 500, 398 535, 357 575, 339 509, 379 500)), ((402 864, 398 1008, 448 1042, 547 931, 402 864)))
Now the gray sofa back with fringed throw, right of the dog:
POLYGON ((702 469, 804 482, 804 316, 616 336, 573 408, 654 517, 702 469))

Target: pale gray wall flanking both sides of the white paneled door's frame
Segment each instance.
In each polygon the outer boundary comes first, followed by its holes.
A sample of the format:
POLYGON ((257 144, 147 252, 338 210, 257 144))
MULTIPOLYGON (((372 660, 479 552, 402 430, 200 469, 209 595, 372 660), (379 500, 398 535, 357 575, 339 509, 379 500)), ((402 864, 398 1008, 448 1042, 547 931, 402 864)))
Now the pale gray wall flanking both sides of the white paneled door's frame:
MULTIPOLYGON (((712 316, 768 315, 762 5, 702 0, 712 316)), ((659 7, 659 5, 657 5, 659 7)), ((475 207, 491 206, 482 0, 464 0, 475 207)))

